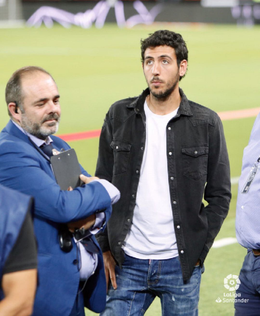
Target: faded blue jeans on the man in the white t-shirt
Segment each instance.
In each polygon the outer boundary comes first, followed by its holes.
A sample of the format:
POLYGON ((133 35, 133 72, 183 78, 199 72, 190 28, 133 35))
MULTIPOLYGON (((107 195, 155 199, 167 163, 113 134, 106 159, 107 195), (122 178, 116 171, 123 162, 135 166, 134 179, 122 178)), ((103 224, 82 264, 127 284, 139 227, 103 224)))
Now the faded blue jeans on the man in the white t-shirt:
POLYGON ((156 296, 162 316, 198 315, 201 267, 196 266, 183 283, 179 257, 152 260, 125 255, 123 268, 116 266, 117 289, 110 285, 106 309, 100 316, 141 316, 156 296))

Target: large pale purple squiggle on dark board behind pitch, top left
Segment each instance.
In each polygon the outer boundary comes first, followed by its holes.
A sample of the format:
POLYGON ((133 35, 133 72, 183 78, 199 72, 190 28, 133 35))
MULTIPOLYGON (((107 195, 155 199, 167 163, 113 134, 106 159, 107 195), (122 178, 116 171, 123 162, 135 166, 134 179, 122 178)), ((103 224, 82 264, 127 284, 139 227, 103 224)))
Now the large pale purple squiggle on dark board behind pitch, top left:
POLYGON ((161 12, 161 4, 156 4, 150 11, 148 11, 145 5, 139 0, 133 3, 133 7, 138 14, 133 15, 126 20, 124 3, 122 1, 99 1, 93 9, 86 10, 84 13, 79 12, 77 14, 53 7, 43 6, 35 11, 28 19, 27 25, 40 27, 40 25, 44 23, 46 27, 52 27, 53 21, 56 21, 63 27, 77 25, 79 27, 89 28, 95 22, 95 26, 101 28, 104 26, 108 11, 114 9, 116 22, 119 27, 133 27, 137 24, 152 24, 156 16, 161 12))

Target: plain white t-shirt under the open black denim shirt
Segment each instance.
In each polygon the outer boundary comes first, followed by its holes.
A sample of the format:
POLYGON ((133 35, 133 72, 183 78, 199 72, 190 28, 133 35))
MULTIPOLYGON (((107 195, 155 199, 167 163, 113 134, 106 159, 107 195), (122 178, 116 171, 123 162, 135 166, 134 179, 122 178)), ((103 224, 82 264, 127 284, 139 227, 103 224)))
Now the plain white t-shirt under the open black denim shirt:
POLYGON ((153 113, 145 101, 146 140, 133 222, 124 252, 139 259, 169 259, 178 255, 170 204, 166 126, 178 108, 166 115, 153 113))

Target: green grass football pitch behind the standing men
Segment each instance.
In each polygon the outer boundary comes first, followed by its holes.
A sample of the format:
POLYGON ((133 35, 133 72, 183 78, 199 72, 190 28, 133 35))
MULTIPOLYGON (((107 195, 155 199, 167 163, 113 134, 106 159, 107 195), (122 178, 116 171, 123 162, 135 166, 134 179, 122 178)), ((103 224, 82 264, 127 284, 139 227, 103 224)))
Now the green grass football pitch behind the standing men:
MULTIPOLYGON (((52 29, 0 29, 0 127, 8 121, 4 102, 7 80, 22 66, 38 65, 51 72, 59 87, 59 134, 101 128, 114 101, 138 95, 146 87, 139 42, 162 28, 181 33, 187 42, 188 73, 180 86, 190 100, 217 112, 259 106, 259 27, 155 24, 119 29, 106 24, 102 29, 65 29, 59 25, 52 29)), ((240 175, 243 149, 253 122, 254 118, 223 122, 232 177, 240 175)), ((76 149, 81 164, 93 174, 98 139, 70 145, 76 149)), ((217 239, 235 237, 237 185, 232 185, 232 194, 230 212, 217 239)), ((211 249, 202 275, 200 316, 233 315, 232 303, 215 300, 226 292, 224 278, 238 275, 245 254, 238 244, 211 249)), ((156 299, 145 315, 160 314, 160 301, 156 299)), ((96 314, 86 310, 86 315, 96 314)))

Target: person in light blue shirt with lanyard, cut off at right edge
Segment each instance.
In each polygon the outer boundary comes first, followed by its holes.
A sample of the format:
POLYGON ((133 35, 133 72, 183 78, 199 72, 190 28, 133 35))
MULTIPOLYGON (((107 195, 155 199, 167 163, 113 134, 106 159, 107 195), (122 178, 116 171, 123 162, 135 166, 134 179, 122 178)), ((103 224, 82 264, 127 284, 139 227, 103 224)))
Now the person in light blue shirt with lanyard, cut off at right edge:
POLYGON ((260 315, 260 113, 244 149, 238 182, 236 235, 248 249, 239 274, 235 316, 260 315))

